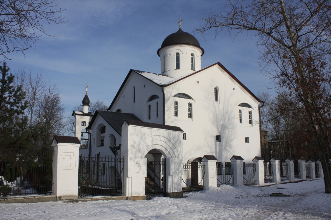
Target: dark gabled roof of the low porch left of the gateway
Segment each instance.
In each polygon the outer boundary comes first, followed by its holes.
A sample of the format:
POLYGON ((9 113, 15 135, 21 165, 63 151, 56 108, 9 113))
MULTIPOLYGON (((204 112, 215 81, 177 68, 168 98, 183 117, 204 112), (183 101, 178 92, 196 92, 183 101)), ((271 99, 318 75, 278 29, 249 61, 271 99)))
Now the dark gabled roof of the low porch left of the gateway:
POLYGON ((123 113, 123 112, 115 112, 115 111, 100 111, 97 110, 95 114, 93 115, 93 118, 91 119, 90 124, 87 126, 87 129, 91 129, 91 126, 93 125, 95 118, 97 115, 100 115, 103 117, 106 122, 114 128, 114 130, 122 136, 122 124, 125 119, 135 120, 135 121, 141 121, 137 116, 131 113, 123 113))

